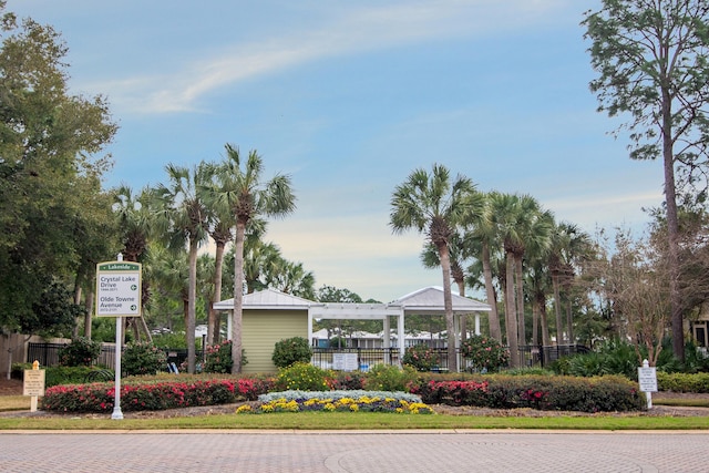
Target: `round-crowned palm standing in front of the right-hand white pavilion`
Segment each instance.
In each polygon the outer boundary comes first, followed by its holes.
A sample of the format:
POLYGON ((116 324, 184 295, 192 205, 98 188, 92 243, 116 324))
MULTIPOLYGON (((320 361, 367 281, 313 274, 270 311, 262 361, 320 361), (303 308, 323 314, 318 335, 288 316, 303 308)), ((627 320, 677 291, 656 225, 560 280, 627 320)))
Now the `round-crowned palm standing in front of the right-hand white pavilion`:
POLYGON ((484 200, 473 182, 456 176, 451 182, 449 169, 434 164, 432 173, 415 169, 395 187, 391 198, 390 225, 400 234, 415 228, 425 235, 439 253, 443 273, 443 305, 448 331, 448 367, 458 371, 455 322, 451 295, 451 258, 449 245, 456 228, 483 213, 484 200))

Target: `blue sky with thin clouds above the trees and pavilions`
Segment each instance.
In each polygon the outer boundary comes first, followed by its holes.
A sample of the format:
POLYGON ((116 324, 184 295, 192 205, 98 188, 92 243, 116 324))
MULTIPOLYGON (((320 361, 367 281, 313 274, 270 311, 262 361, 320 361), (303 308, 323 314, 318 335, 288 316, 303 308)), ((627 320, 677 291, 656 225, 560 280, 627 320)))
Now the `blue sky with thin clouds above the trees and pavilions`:
POLYGON ((73 94, 121 126, 106 187, 257 150, 298 209, 266 239, 316 286, 382 301, 440 286, 423 237, 393 235, 394 187, 433 163, 530 194, 557 220, 641 228, 661 163, 597 113, 579 25, 595 0, 9 0, 65 40, 73 94))

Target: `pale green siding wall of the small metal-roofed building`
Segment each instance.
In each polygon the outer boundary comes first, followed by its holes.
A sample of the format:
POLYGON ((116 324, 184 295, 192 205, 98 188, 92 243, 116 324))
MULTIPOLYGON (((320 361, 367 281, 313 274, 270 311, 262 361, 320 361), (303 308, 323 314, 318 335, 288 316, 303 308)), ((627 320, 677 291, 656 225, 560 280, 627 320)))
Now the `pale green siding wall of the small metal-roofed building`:
POLYGON ((308 338, 307 310, 245 310, 242 343, 248 364, 245 373, 275 373, 271 361, 276 342, 291 337, 308 338))

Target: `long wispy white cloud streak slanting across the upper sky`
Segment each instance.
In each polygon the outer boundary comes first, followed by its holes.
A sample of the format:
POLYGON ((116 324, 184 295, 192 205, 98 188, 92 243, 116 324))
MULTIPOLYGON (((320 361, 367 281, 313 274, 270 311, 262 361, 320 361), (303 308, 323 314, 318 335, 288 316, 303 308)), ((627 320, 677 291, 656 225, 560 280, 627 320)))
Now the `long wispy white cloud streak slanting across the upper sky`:
POLYGON ((389 7, 349 7, 327 24, 286 31, 280 38, 235 44, 164 75, 133 76, 96 85, 112 101, 142 113, 198 111, 201 99, 239 81, 331 56, 391 49, 421 41, 483 35, 548 21, 563 0, 440 0, 389 7))

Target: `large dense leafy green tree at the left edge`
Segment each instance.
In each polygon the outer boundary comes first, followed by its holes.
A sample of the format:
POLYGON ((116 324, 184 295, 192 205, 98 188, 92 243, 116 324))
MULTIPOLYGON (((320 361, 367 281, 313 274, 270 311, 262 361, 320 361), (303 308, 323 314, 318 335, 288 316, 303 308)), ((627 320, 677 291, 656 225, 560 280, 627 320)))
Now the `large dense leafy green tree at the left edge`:
POLYGON ((34 21, 6 27, 0 44, 0 327, 55 332, 69 325, 72 299, 52 294, 53 278, 85 284, 111 244, 111 207, 101 189, 109 162, 99 154, 116 125, 102 97, 68 95, 68 48, 54 29, 34 21))

